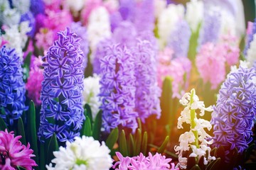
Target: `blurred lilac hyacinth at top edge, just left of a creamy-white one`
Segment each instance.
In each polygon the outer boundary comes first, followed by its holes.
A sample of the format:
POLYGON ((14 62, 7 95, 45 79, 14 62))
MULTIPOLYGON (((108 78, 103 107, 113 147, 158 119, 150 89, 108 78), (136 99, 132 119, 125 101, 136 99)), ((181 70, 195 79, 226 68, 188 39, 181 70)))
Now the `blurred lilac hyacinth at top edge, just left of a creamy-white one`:
POLYGON ((154 0, 143 0, 137 4, 134 25, 137 30, 154 30, 154 0))

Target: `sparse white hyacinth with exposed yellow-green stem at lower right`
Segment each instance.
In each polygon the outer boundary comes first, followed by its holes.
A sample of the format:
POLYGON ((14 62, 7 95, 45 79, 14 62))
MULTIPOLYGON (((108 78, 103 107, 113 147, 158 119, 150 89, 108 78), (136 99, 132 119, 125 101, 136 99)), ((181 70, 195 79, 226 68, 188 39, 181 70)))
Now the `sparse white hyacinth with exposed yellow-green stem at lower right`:
POLYGON ((197 160, 204 157, 203 164, 206 165, 208 162, 215 159, 215 157, 211 157, 210 154, 208 154, 208 157, 206 155, 206 152, 210 153, 210 147, 208 147, 208 145, 213 144, 213 140, 210 139, 211 136, 208 135, 205 128, 210 130, 212 125, 210 125, 210 122, 207 120, 197 118, 196 110, 199 109, 199 115, 203 116, 205 111, 211 112, 213 109, 211 106, 206 108, 203 101, 199 101, 195 89, 192 89, 190 93, 184 94, 180 103, 186 107, 181 111, 181 116, 178 118, 177 128, 183 129, 182 124, 187 123, 191 125, 191 130, 181 134, 178 139, 180 145, 174 147, 176 154, 178 154, 177 166, 181 169, 187 168, 188 159, 187 157, 183 157, 183 152, 189 151, 190 148, 193 152, 189 154, 188 157, 195 157, 197 160))

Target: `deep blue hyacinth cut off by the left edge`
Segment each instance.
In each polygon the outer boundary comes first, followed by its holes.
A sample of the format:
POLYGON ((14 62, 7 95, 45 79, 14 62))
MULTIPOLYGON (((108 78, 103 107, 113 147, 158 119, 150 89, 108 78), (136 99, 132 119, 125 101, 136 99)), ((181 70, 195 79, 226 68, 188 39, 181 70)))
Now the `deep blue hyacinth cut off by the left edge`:
POLYGON ((25 106, 25 83, 23 82, 23 69, 20 57, 15 49, 1 47, 0 51, 0 108, 5 114, 0 116, 4 121, 13 125, 14 120, 21 117, 25 106))

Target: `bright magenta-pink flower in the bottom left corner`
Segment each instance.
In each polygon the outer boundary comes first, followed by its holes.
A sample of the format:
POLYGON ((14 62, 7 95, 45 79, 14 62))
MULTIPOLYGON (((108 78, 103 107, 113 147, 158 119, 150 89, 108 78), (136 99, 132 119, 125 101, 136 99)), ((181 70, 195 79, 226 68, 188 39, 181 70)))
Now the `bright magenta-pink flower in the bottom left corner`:
POLYGON ((21 136, 14 137, 14 132, 7 130, 0 131, 0 169, 15 170, 17 166, 31 170, 32 166, 37 166, 36 162, 31 159, 35 157, 33 150, 29 149, 30 145, 22 145, 19 141, 21 136))

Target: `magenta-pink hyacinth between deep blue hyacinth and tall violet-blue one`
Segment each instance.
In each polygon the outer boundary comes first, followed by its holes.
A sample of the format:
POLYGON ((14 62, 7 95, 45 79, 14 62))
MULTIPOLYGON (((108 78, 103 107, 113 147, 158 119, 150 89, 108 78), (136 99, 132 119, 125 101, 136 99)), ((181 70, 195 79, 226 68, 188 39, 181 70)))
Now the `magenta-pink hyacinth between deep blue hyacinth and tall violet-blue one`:
POLYGON ((43 69, 41 57, 32 57, 31 71, 29 72, 26 90, 28 91, 28 98, 31 98, 36 106, 41 105, 41 89, 43 81, 43 69))

